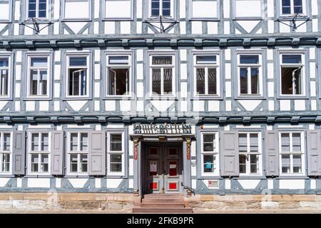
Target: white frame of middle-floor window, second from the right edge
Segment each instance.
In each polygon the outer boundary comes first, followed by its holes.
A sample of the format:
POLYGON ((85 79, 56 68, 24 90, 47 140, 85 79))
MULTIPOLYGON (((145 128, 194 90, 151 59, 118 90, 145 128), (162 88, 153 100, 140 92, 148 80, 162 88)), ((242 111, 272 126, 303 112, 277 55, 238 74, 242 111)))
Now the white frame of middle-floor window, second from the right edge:
POLYGON ((252 98, 252 97, 263 97, 263 53, 260 52, 237 52, 237 81, 238 81, 238 97, 242 98, 252 98), (240 63, 240 56, 259 56, 259 63, 258 64, 250 64, 250 63, 240 63), (248 68, 248 92, 250 93, 243 94, 240 93, 240 68, 248 68), (259 87, 258 87, 258 94, 252 94, 252 82, 251 82, 251 71, 250 68, 259 68, 259 87))

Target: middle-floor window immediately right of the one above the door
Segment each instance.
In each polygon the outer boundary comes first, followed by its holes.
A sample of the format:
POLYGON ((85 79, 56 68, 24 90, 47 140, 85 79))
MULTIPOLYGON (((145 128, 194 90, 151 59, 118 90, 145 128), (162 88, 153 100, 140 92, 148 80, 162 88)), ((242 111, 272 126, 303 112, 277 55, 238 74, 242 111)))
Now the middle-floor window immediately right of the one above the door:
POLYGON ((195 95, 220 94, 218 55, 194 55, 195 95))

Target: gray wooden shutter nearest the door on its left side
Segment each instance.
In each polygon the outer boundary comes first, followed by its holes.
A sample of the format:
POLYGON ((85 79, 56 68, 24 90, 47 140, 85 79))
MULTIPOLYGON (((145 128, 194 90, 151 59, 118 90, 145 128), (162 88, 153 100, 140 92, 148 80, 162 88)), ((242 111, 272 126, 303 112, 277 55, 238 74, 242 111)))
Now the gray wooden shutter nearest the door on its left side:
POLYGON ((91 131, 88 140, 89 175, 106 175, 106 132, 91 131))

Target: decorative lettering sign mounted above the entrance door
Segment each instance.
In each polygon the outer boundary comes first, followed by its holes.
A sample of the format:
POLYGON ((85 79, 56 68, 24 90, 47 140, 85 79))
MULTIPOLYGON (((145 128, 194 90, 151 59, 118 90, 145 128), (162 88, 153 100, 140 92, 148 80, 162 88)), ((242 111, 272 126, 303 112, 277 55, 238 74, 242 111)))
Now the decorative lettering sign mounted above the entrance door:
POLYGON ((135 134, 191 134, 192 126, 187 124, 136 124, 135 134))

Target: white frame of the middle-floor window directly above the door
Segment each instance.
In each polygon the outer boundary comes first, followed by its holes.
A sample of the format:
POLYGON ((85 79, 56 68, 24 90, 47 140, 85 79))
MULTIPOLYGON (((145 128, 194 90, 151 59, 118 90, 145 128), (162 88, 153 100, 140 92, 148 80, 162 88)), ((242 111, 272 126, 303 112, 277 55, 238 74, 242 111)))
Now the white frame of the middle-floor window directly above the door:
POLYGON ((152 98, 173 98, 175 97, 175 80, 176 80, 176 55, 175 53, 150 53, 148 55, 148 72, 149 72, 149 93, 152 98), (172 56, 170 65, 152 65, 153 56, 172 56), (153 68, 161 68, 161 94, 153 94, 153 68), (164 68, 172 68, 172 93, 164 94, 164 68))

